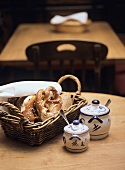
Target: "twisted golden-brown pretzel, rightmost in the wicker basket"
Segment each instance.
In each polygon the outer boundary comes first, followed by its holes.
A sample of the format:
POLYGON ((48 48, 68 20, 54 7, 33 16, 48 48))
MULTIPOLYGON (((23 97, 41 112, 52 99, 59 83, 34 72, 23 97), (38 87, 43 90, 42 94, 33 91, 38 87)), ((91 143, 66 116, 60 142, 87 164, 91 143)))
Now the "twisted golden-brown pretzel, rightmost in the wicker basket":
POLYGON ((53 86, 40 89, 36 94, 36 109, 42 121, 58 114, 62 107, 62 98, 53 86))

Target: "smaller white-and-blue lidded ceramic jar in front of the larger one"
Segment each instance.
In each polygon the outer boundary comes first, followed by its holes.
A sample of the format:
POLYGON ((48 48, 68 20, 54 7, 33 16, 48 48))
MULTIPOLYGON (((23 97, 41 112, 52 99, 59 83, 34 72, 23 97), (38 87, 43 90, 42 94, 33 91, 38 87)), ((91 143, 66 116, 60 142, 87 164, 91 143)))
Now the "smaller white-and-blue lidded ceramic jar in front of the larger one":
POLYGON ((67 150, 83 152, 87 149, 89 141, 89 128, 79 120, 74 120, 73 123, 64 127, 63 142, 67 150))

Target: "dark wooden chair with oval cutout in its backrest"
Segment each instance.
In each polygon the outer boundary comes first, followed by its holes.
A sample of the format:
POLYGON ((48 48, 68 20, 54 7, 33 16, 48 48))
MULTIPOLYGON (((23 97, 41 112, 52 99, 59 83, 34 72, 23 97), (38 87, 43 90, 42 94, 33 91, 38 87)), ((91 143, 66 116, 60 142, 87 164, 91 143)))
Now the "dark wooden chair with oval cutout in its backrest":
POLYGON ((60 70, 60 76, 67 74, 66 70, 68 74, 75 74, 76 70, 80 70, 81 83, 85 84, 86 69, 92 66, 98 90, 101 83, 101 61, 106 59, 107 53, 108 48, 104 44, 79 40, 40 42, 26 48, 27 58, 34 64, 35 79, 41 79, 40 70, 44 68, 42 63, 46 61, 51 80, 54 70, 60 70))

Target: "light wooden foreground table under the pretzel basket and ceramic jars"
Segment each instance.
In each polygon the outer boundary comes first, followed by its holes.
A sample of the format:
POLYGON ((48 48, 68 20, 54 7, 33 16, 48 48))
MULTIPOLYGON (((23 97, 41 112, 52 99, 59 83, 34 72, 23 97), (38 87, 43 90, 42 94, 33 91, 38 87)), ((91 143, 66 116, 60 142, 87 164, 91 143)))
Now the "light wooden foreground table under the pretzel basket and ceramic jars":
POLYGON ((111 128, 103 140, 90 141, 88 150, 71 153, 63 147, 62 134, 33 147, 7 138, 0 128, 1 170, 125 170, 125 98, 99 93, 82 93, 90 103, 110 98, 111 128))

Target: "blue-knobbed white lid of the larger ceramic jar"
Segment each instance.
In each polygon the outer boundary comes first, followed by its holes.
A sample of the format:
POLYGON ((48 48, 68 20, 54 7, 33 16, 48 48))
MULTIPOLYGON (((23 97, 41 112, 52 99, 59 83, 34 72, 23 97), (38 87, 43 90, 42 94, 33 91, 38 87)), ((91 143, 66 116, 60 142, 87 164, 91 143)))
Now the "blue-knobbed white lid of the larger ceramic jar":
POLYGON ((110 109, 106 106, 101 105, 99 100, 93 100, 92 104, 82 107, 80 109, 80 112, 81 114, 87 116, 104 116, 106 114, 109 114, 110 109))

